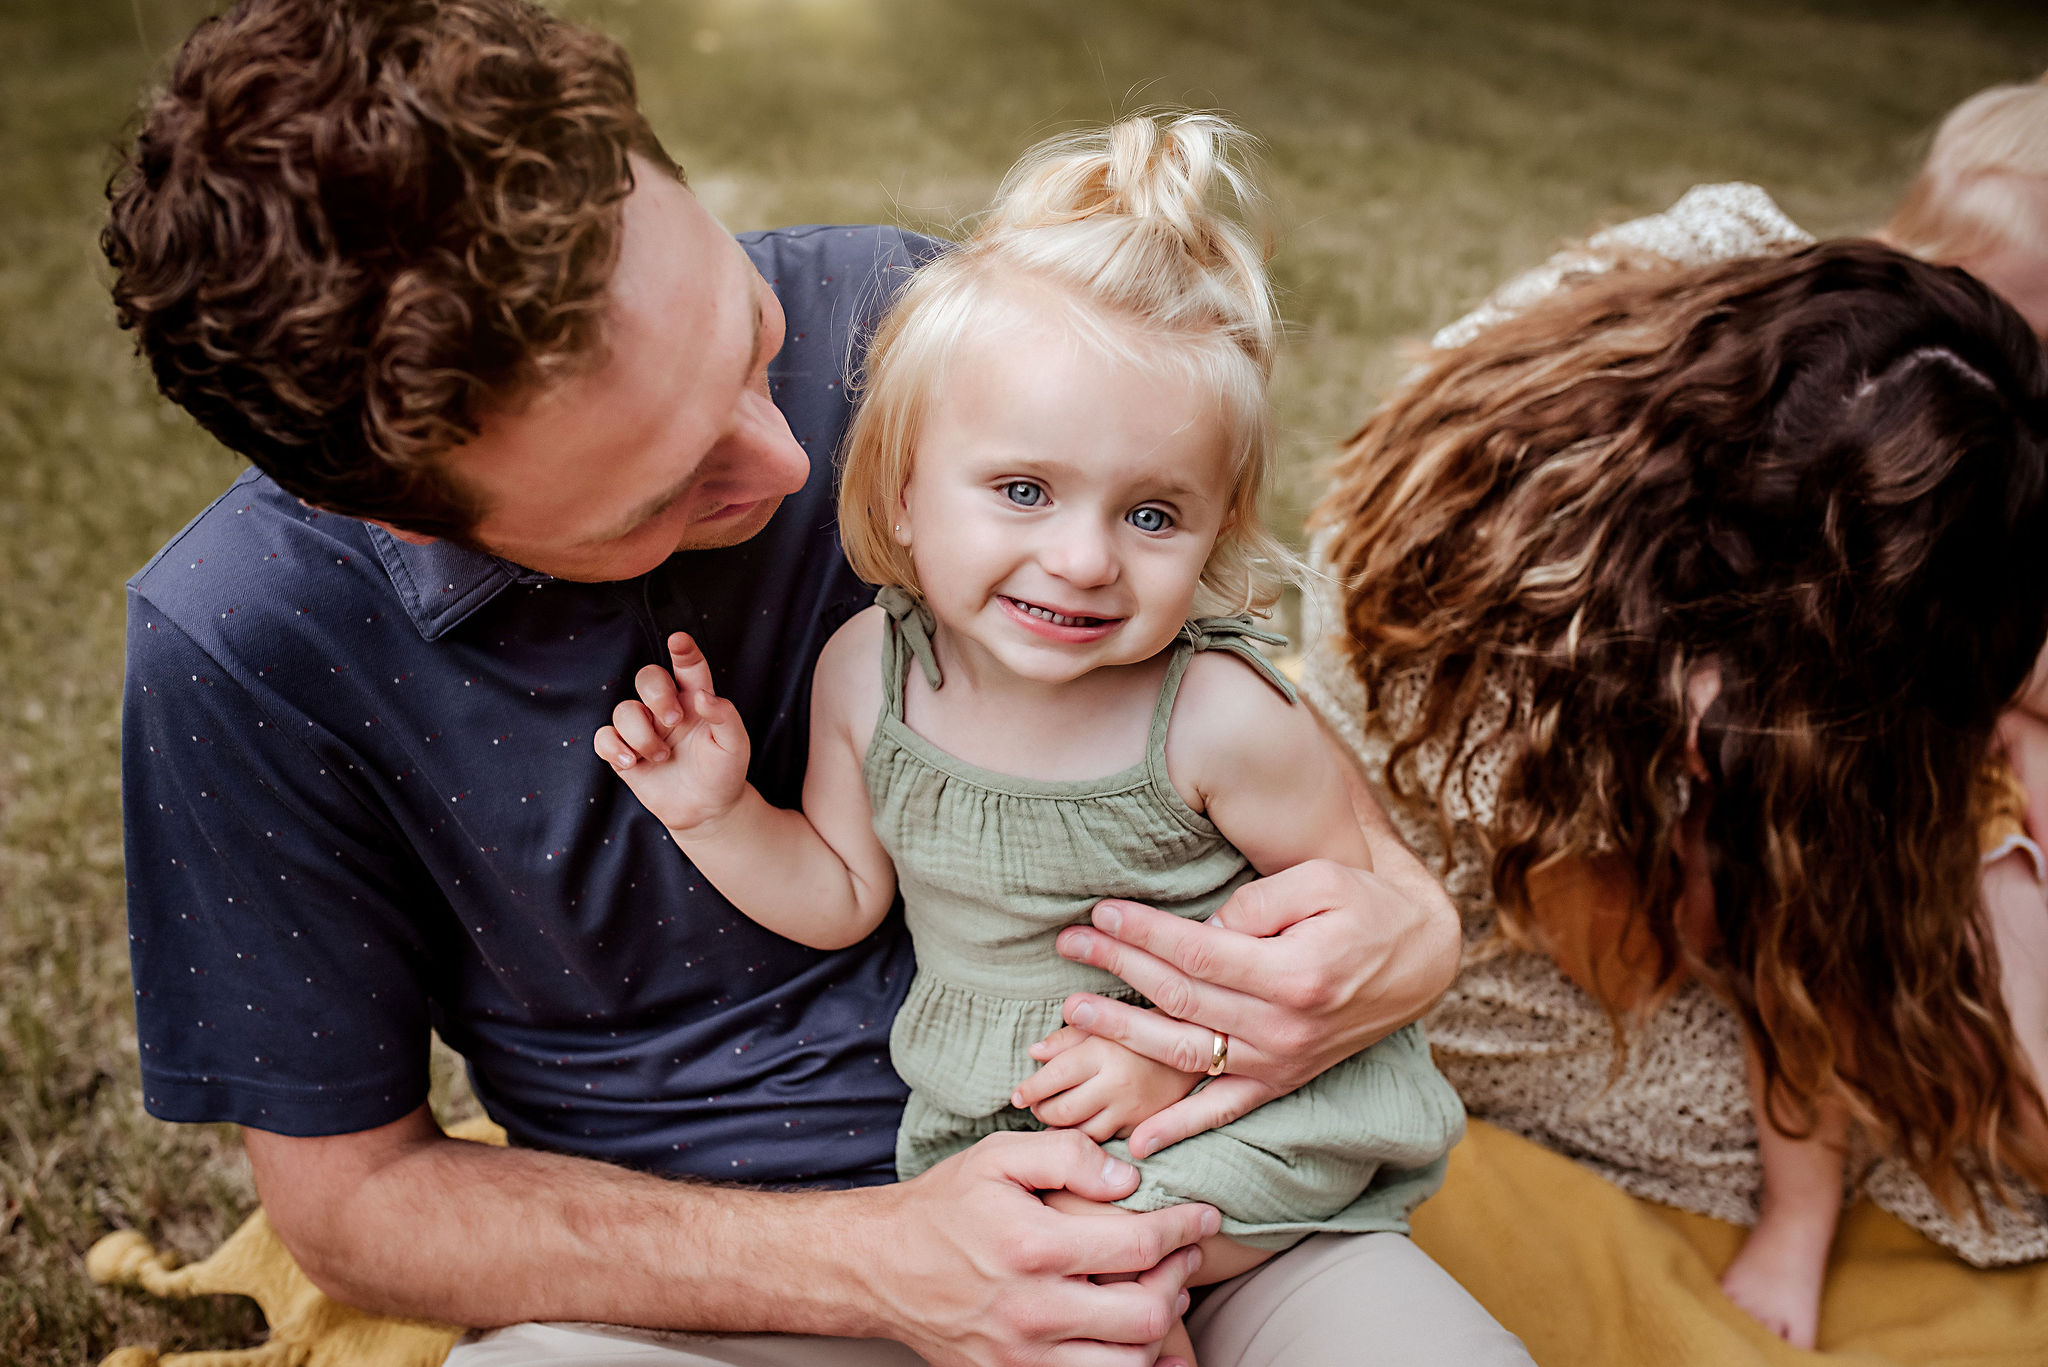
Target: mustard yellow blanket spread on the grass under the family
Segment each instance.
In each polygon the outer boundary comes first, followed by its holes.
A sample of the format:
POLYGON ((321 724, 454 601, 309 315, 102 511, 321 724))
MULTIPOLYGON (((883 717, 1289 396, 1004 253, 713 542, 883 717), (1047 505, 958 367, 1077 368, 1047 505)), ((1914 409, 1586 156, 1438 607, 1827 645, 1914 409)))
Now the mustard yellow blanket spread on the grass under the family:
MULTIPOLYGON (((496 1127, 465 1137, 504 1142, 496 1127)), ((1788 1349, 1720 1295, 1743 1230, 1638 1201, 1487 1123, 1450 1154, 1415 1242, 1542 1367, 2044 1367, 2048 1265, 1976 1271, 1872 1205, 1835 1244, 1821 1344, 1788 1349)), ((252 1295, 270 1342, 242 1353, 121 1349, 102 1367, 436 1367, 459 1330, 367 1316, 324 1297, 252 1215, 205 1262, 174 1269, 135 1232, 86 1256, 94 1281, 156 1295, 252 1295)))

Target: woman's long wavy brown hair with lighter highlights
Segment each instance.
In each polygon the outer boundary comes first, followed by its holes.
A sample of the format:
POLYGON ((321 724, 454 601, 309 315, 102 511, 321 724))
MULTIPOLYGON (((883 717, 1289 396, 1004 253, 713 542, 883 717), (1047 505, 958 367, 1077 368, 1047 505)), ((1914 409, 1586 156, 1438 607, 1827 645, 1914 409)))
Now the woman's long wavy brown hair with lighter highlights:
POLYGON ((1532 873, 1626 861, 1665 980, 1733 1004, 1774 1113, 1841 1094, 1950 1197, 1958 1160, 2048 1178, 1972 812, 2048 635, 2048 363, 2007 303, 1872 242, 1622 264, 1436 357, 1319 521, 1368 699, 1419 699, 1382 711, 1395 799, 1448 826, 1507 744, 1507 935, 1540 943, 1532 873), (1706 666, 1702 951, 1675 842, 1706 666), (1423 791, 1432 742, 1462 762, 1423 791))

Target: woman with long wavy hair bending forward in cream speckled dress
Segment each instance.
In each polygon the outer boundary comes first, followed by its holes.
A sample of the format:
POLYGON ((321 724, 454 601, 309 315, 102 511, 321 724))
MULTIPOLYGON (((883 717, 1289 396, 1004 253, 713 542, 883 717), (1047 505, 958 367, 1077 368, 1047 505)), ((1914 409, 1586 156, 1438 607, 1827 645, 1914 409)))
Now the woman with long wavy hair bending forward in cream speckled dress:
POLYGON ((2048 984, 2001 986, 1978 894, 2048 637, 2025 322, 1872 242, 1614 262, 1411 375, 1319 525, 1307 691, 1466 914, 1432 1041, 1473 1113, 1743 1224, 1761 1185, 1751 1246, 1821 1221, 1812 1306, 1851 1133, 1894 1213, 2048 1256, 2009 1000, 2048 984))

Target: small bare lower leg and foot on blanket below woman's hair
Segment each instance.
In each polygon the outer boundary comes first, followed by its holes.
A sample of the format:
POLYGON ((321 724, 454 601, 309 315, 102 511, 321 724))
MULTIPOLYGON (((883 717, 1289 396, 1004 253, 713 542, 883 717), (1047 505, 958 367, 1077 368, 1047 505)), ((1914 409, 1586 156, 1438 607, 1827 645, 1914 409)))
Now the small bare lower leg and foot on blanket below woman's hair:
POLYGON ((1755 1230, 1720 1275, 1720 1289, 1794 1349, 1812 1349, 1821 1326, 1827 1252, 1835 1242, 1835 1221, 1841 1219, 1847 1113, 1841 1105, 1823 1101, 1810 1135, 1794 1140, 1780 1131, 1763 1101, 1763 1066, 1753 1047, 1749 1107, 1757 1117, 1763 1199, 1755 1230))

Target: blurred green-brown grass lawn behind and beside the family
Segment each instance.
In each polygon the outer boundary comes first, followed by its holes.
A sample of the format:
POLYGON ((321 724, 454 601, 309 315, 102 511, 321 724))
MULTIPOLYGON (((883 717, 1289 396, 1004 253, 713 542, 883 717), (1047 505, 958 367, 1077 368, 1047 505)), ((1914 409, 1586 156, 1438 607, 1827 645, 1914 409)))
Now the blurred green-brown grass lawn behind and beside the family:
MULTIPOLYGON (((121 582, 238 463, 154 396, 94 232, 106 150, 205 10, 0 10, 0 1361, 31 1367, 260 1332, 244 1303, 96 1291, 80 1260, 119 1226, 205 1252, 252 1201, 231 1133, 141 1111, 121 922, 121 582)), ((1729 178, 1817 232, 1870 225, 1944 109, 2048 66, 2048 12, 1991 2, 565 10, 627 43, 655 127, 735 230, 944 230, 1047 131, 1161 102, 1233 113, 1266 141, 1284 234, 1282 527, 1399 344, 1563 240, 1729 178)))

